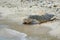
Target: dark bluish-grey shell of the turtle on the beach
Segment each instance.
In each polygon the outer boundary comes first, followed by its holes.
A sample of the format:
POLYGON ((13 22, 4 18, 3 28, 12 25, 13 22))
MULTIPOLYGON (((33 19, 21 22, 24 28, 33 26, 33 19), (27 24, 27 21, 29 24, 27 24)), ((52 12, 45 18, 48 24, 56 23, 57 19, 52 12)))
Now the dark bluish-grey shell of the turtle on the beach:
POLYGON ((28 18, 30 19, 36 19, 39 22, 44 22, 44 21, 50 21, 54 17, 53 14, 45 14, 45 15, 30 15, 28 18))

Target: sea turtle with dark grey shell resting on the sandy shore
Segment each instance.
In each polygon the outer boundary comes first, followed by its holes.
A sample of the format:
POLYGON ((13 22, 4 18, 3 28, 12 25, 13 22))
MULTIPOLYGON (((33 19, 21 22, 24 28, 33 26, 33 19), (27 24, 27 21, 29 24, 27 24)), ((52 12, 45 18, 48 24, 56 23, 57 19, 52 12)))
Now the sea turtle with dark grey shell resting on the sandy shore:
POLYGON ((40 23, 44 23, 47 21, 53 21, 55 15, 53 14, 45 14, 45 15, 30 15, 27 19, 24 19, 24 23, 23 24, 40 24, 40 23))

